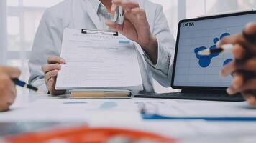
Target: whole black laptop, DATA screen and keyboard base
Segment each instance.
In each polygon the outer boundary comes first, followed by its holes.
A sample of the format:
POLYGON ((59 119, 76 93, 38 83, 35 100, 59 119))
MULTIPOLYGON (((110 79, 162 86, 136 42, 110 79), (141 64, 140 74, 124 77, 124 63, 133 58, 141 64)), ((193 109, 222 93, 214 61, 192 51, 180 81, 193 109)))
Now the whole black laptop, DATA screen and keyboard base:
POLYGON ((226 93, 227 87, 232 82, 232 76, 225 78, 219 76, 222 67, 233 60, 232 54, 217 53, 201 56, 198 52, 204 49, 215 49, 219 40, 232 34, 241 33, 244 26, 253 19, 256 19, 256 11, 180 21, 171 87, 181 89, 181 92, 138 94, 135 97, 244 101, 240 94, 229 96, 226 93))

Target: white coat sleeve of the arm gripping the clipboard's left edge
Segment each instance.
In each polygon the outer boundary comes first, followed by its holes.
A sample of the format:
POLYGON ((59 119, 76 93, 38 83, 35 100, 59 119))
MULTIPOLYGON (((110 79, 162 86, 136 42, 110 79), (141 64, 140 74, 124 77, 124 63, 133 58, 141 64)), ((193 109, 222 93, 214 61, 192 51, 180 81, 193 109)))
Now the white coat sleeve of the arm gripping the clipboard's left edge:
POLYGON ((48 10, 42 16, 35 35, 32 54, 29 59, 29 84, 47 90, 42 65, 47 64, 49 56, 60 56, 63 26, 54 12, 48 10))

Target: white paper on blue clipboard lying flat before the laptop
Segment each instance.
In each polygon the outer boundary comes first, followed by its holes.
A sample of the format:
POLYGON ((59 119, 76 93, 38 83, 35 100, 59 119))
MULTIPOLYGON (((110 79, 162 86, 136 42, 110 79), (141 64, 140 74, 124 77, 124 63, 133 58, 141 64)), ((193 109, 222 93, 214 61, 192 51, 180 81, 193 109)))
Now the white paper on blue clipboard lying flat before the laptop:
POLYGON ((187 104, 144 104, 143 119, 171 119, 207 121, 253 121, 256 122, 255 109, 247 107, 246 102, 209 102, 187 104))

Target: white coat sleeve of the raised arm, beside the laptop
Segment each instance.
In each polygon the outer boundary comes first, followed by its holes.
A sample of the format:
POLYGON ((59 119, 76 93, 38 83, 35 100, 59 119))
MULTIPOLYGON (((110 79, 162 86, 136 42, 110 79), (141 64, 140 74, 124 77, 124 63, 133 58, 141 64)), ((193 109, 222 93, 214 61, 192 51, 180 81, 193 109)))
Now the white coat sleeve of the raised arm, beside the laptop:
POLYGON ((144 54, 144 57, 149 65, 150 71, 152 71, 154 79, 164 87, 170 87, 173 70, 173 56, 175 52, 175 40, 168 27, 168 21, 163 14, 162 6, 158 6, 156 12, 157 14, 152 34, 157 37, 158 42, 157 64, 152 64, 152 61, 147 54, 144 54))

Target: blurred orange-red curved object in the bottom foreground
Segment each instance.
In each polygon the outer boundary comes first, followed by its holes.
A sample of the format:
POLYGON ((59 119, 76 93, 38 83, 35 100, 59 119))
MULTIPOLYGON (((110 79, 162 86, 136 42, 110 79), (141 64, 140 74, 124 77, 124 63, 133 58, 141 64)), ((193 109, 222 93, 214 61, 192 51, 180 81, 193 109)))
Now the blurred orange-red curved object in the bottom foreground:
POLYGON ((6 143, 41 143, 41 142, 109 142, 116 137, 124 137, 129 142, 152 141, 174 143, 175 139, 170 139, 150 132, 142 132, 130 129, 115 128, 89 128, 74 127, 69 129, 51 129, 42 132, 32 132, 6 137, 6 143))

